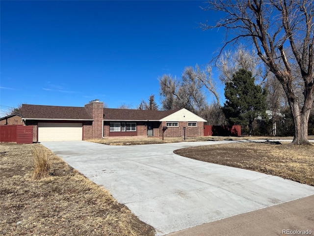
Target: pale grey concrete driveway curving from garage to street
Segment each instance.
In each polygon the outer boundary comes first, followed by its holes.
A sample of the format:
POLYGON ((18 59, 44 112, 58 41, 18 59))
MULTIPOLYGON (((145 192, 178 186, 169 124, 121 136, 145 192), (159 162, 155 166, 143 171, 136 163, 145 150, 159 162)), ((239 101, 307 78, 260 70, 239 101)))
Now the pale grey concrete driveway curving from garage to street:
POLYGON ((280 177, 192 160, 175 149, 232 141, 106 146, 84 141, 45 147, 165 235, 314 195, 314 187, 280 177))

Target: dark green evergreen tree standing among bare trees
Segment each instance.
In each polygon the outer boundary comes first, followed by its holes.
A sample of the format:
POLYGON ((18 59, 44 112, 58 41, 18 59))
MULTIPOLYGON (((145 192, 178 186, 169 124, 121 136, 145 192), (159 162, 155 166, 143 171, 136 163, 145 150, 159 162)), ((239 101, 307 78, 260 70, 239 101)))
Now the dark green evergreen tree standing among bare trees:
POLYGON ((226 82, 225 97, 223 112, 230 124, 248 125, 249 134, 252 134, 253 121, 266 115, 266 91, 255 85, 252 72, 236 71, 232 81, 226 82))

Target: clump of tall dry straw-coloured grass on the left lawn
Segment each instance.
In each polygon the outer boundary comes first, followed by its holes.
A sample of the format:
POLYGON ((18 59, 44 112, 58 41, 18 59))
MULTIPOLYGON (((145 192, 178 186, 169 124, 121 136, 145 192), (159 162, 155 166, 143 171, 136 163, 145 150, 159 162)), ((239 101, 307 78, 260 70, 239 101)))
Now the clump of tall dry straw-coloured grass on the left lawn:
POLYGON ((49 152, 43 148, 32 148, 34 170, 32 171, 33 179, 42 179, 49 177, 51 170, 51 161, 49 152))

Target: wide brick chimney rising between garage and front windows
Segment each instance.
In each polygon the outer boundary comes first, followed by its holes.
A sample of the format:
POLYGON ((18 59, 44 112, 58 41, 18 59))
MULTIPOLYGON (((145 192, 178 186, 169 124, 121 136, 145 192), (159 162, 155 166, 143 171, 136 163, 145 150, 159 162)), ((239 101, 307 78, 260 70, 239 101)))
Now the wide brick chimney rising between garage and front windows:
POLYGON ((103 137, 104 103, 100 102, 99 99, 95 99, 86 104, 85 108, 94 119, 92 123, 92 138, 101 139, 103 137))

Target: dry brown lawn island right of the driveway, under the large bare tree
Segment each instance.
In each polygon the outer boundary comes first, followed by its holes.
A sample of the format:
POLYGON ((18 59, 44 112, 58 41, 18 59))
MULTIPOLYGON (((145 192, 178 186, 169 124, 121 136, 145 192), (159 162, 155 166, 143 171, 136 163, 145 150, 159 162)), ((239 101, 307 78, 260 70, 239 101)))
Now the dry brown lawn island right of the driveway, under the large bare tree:
POLYGON ((183 148, 176 154, 314 186, 314 146, 236 143, 183 148))

